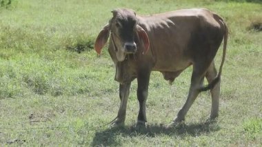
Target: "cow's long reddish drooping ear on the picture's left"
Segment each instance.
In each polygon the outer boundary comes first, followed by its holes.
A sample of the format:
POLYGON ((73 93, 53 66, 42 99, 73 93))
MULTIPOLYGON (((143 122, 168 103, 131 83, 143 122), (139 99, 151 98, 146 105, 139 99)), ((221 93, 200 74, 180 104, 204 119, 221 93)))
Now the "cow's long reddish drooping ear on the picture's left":
POLYGON ((94 43, 94 49, 97 51, 97 54, 101 54, 103 46, 105 46, 106 41, 108 41, 110 31, 109 24, 105 25, 103 29, 99 32, 96 42, 94 43))

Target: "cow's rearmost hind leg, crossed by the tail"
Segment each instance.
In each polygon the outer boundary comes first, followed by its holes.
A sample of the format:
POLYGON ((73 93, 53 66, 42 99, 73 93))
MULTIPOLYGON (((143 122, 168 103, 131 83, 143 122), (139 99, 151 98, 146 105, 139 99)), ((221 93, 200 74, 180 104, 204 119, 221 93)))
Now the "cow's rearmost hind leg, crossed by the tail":
MULTIPOLYGON (((216 68, 214 67, 214 61, 211 63, 208 71, 205 74, 208 83, 210 83, 216 77, 216 68)), ((219 93, 220 93, 220 81, 210 90, 212 97, 212 106, 210 119, 213 120, 219 116, 219 93)))

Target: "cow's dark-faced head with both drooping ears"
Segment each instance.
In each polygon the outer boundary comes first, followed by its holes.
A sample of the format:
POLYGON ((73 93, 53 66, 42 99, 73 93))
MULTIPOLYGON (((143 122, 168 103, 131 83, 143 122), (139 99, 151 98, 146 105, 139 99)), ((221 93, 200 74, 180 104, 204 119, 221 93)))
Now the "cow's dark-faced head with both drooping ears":
MULTIPOLYGON (((108 37, 111 37, 117 61, 124 61, 125 56, 135 54, 138 50, 137 43, 143 43, 141 52, 149 49, 149 39, 145 30, 137 24, 136 13, 133 10, 117 9, 112 11, 113 17, 109 23, 99 32, 94 48, 101 54, 108 37), (138 42, 141 41, 141 42, 138 42)), ((140 49, 140 48, 139 48, 140 49)), ((139 50, 140 51, 140 50, 139 50)))

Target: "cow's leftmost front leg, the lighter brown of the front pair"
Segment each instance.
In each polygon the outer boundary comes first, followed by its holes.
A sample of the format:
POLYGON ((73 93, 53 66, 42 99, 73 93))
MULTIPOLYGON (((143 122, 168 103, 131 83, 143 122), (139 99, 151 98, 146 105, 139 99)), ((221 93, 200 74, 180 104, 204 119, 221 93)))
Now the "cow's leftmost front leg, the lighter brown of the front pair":
POLYGON ((119 84, 119 97, 121 100, 117 118, 111 123, 111 126, 123 126, 125 124, 126 106, 130 92, 131 81, 128 84, 119 84))

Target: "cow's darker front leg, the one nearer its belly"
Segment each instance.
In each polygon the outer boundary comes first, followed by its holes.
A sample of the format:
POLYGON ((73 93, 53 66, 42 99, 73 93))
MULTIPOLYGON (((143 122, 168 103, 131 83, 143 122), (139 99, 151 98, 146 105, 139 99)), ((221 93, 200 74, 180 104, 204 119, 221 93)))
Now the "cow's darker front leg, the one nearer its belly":
POLYGON ((148 98, 148 84, 150 72, 140 72, 137 77, 137 99, 139 100, 139 115, 137 117, 137 127, 145 126, 145 101, 148 98))

